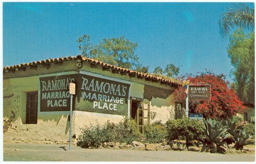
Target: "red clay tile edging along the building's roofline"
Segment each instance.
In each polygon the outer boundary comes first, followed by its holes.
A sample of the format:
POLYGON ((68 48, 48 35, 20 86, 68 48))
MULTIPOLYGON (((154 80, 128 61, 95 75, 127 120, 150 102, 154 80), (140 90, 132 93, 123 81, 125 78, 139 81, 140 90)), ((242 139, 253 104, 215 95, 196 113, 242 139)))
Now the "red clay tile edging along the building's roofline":
POLYGON ((77 57, 63 57, 63 58, 47 59, 47 60, 42 60, 42 61, 37 61, 37 62, 18 64, 18 65, 14 65, 14 66, 6 66, 6 67, 3 68, 3 71, 12 70, 12 69, 16 69, 16 68, 37 66, 37 65, 40 65, 40 64, 48 64, 48 63, 78 60, 78 59, 80 59, 81 61, 88 62, 90 64, 100 65, 100 66, 105 67, 105 68, 111 68, 113 70, 117 70, 117 71, 120 71, 120 72, 137 75, 137 77, 138 76, 139 77, 144 77, 144 78, 148 78, 148 79, 155 80, 155 81, 161 81, 161 82, 167 83, 167 84, 174 84, 174 85, 179 85, 179 86, 182 85, 182 81, 178 80, 178 79, 164 78, 164 76, 163 77, 157 77, 157 76, 154 76, 154 75, 149 74, 149 73, 141 73, 141 72, 133 71, 133 70, 126 69, 126 68, 121 68, 121 67, 118 67, 118 66, 103 63, 99 60, 82 57, 80 54, 77 57))

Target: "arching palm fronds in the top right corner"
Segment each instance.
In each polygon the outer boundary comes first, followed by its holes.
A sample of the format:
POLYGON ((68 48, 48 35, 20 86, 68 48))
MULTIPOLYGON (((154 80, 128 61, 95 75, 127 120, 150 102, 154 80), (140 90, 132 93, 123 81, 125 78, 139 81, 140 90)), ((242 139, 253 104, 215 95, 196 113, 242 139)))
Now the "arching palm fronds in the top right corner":
POLYGON ((233 29, 234 26, 240 29, 254 30, 254 9, 242 3, 233 5, 232 8, 227 8, 227 11, 220 16, 220 35, 226 38, 230 28, 233 29))

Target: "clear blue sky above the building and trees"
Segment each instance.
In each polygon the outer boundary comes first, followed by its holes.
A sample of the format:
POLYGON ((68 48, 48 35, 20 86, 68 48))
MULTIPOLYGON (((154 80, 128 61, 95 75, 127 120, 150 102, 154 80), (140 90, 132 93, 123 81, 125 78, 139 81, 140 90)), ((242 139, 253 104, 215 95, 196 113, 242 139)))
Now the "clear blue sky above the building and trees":
MULTIPOLYGON (((254 7, 254 4, 248 4, 254 7)), ((212 69, 229 75, 228 39, 219 34, 220 14, 231 3, 4 3, 3 66, 77 56, 83 34, 98 44, 125 36, 153 72, 167 64, 180 74, 212 69)), ((227 80, 230 77, 227 76, 227 80)))

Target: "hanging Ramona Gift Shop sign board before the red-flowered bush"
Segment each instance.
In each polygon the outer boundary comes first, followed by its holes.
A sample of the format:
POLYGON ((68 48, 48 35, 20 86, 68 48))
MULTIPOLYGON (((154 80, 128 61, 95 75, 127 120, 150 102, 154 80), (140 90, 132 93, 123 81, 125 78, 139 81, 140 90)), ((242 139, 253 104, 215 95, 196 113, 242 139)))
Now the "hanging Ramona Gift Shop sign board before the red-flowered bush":
POLYGON ((210 85, 189 85, 188 99, 194 101, 209 101, 210 85))

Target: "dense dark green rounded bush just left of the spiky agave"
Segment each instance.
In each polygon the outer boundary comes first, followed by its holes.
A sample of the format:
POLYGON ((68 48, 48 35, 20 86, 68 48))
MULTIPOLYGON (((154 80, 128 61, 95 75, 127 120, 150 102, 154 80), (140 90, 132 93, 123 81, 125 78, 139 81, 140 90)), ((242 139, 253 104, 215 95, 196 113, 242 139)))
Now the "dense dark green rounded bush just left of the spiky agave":
POLYGON ((189 120, 182 118, 178 120, 168 120, 166 123, 166 140, 172 143, 174 140, 185 140, 187 149, 193 145, 195 140, 199 140, 203 134, 202 122, 199 120, 189 120))

